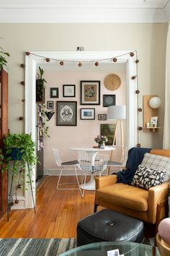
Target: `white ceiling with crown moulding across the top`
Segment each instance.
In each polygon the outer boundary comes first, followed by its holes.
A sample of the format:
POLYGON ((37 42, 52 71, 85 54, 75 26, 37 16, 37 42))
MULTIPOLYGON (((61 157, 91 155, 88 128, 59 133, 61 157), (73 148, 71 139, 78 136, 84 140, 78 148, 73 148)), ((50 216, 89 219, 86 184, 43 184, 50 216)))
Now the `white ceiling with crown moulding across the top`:
POLYGON ((169 0, 0 0, 0 22, 161 23, 169 20, 169 0))

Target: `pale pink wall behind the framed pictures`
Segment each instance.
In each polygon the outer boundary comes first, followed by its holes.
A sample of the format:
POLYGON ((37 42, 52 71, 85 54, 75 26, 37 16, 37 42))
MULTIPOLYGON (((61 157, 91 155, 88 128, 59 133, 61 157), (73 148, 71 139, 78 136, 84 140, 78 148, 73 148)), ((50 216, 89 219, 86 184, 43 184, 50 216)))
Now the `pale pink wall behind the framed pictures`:
POLYGON ((45 104, 54 101, 55 114, 47 122, 50 138, 44 140, 44 166, 45 169, 56 168, 52 148, 61 151, 63 161, 70 161, 77 157, 75 151, 69 150, 71 146, 93 146, 94 137, 100 134, 100 124, 114 123, 114 121, 99 121, 98 114, 107 114, 107 108, 103 107, 103 95, 115 94, 116 105, 126 104, 126 71, 45 71, 47 81, 45 90, 45 104), (120 88, 108 90, 104 86, 104 78, 108 74, 117 74, 121 79, 120 88), (99 80, 100 105, 80 105, 80 81, 99 80), (76 97, 63 98, 63 85, 76 85, 76 97), (59 88, 59 98, 50 98, 50 88, 59 88), (77 101, 77 126, 56 126, 56 101, 77 101), (81 108, 95 108, 95 120, 81 120, 81 108))

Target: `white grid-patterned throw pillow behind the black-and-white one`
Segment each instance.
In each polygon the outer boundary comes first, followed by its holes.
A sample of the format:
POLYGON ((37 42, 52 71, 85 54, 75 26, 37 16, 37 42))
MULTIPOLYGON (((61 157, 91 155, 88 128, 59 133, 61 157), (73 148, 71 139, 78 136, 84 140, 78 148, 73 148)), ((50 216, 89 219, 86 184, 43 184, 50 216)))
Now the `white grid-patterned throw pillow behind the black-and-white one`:
POLYGON ((168 182, 170 178, 170 158, 162 155, 153 155, 145 153, 142 166, 153 168, 154 170, 166 170, 164 182, 168 182))

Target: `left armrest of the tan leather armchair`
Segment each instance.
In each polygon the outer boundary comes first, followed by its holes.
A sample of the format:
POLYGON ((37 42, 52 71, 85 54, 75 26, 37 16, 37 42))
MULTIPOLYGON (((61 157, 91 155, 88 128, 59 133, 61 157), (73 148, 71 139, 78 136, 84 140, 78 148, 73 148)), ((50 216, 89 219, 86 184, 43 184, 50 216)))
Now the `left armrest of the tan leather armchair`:
POLYGON ((115 184, 117 182, 117 175, 96 177, 95 182, 96 189, 101 189, 102 187, 107 187, 109 185, 115 184))

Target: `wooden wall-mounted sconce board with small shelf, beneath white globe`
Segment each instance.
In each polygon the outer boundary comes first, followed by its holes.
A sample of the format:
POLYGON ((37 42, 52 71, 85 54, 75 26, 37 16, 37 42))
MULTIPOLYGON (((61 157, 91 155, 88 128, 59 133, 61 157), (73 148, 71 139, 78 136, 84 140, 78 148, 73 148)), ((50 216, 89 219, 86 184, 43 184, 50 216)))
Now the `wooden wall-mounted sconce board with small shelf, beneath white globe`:
POLYGON ((156 95, 143 95, 143 132, 158 132, 161 127, 146 127, 150 123, 151 116, 158 116, 158 108, 151 108, 149 101, 156 95))

